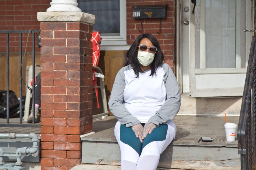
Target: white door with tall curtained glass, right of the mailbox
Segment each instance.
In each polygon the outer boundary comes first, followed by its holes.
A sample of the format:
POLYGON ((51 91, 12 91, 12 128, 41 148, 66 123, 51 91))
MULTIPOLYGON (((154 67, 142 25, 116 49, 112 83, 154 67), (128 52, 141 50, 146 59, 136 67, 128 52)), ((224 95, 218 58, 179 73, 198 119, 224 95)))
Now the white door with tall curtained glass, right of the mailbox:
POLYGON ((253 26, 254 4, 251 0, 192 2, 181 0, 180 8, 183 93, 242 96, 252 35, 244 30, 253 26))

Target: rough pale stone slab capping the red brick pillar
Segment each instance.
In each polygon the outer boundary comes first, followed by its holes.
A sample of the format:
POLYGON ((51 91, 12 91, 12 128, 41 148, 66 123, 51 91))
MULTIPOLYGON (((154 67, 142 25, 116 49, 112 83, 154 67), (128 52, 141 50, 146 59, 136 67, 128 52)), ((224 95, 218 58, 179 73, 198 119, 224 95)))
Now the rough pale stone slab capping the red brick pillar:
POLYGON ((78 21, 94 24, 95 16, 84 12, 38 12, 37 20, 40 22, 78 21))

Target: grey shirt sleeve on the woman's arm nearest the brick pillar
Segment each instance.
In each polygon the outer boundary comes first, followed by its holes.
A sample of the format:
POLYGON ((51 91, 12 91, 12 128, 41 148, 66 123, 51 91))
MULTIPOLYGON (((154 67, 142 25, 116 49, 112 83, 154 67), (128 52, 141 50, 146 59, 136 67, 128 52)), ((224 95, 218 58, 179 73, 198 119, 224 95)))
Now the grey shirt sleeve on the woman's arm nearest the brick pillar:
POLYGON ((111 91, 110 99, 108 102, 110 112, 126 127, 134 126, 140 121, 131 115, 131 113, 124 106, 124 88, 125 88, 125 75, 124 70, 126 67, 120 69, 116 75, 113 88, 111 91))

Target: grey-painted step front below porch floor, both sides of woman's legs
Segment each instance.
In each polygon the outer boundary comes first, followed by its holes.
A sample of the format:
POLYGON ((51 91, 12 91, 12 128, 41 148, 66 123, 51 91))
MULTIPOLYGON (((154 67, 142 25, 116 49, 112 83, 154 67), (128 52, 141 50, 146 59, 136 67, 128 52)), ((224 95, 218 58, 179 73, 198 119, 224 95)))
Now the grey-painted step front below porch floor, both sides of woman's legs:
MULTIPOLYGON (((82 163, 120 165, 121 154, 116 142, 83 141, 82 163), (90 156, 88 156, 90 155, 90 156)), ((237 148, 169 145, 161 154, 159 167, 186 168, 196 165, 199 169, 239 169, 240 155, 237 148), (232 167, 232 168, 231 168, 232 167)))

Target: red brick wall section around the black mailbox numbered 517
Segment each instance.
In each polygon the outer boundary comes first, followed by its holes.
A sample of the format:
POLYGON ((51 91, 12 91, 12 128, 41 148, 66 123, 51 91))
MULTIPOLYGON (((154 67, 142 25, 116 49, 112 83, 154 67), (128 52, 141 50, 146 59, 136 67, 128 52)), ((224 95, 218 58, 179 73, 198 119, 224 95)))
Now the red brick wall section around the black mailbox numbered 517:
POLYGON ((175 0, 127 0, 127 43, 132 44, 133 41, 140 34, 151 33, 153 34, 165 55, 166 62, 173 68, 175 56, 175 0), (160 19, 142 19, 143 31, 141 30, 140 19, 133 19, 133 6, 134 5, 159 5, 168 4, 167 18, 162 19, 162 29, 160 34, 160 19))

